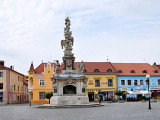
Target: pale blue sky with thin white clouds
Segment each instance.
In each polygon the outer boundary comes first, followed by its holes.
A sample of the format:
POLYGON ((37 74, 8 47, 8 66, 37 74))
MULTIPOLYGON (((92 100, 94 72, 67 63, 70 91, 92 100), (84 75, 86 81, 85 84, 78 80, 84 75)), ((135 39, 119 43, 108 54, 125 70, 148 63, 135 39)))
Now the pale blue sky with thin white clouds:
POLYGON ((62 62, 65 16, 75 61, 160 64, 160 0, 0 0, 0 60, 28 74, 62 62))

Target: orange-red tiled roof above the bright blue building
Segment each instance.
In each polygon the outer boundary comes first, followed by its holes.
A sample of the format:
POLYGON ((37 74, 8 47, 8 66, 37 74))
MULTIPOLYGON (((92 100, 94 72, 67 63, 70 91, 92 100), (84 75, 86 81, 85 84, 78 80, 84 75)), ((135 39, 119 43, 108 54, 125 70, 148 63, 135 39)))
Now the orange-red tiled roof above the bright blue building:
POLYGON ((112 63, 118 75, 160 75, 160 72, 154 73, 156 68, 148 63, 112 63), (122 73, 118 73, 121 70, 122 73), (130 71, 134 70, 135 73, 130 71), (147 73, 143 73, 146 70, 147 73))

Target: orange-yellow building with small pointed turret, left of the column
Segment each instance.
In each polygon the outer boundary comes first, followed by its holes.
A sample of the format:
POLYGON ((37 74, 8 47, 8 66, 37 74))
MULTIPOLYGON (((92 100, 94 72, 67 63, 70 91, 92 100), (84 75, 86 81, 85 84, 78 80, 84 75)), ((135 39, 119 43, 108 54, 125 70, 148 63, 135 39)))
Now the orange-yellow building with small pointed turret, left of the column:
POLYGON ((33 63, 28 71, 28 90, 31 103, 48 103, 47 92, 53 92, 51 77, 54 75, 55 63, 41 63, 34 69, 33 63))

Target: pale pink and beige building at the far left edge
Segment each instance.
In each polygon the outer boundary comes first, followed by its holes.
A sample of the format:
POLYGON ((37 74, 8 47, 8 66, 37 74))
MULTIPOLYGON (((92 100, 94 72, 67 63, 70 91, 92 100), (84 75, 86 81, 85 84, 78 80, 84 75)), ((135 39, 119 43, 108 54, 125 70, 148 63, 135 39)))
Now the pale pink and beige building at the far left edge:
MULTIPOLYGON (((0 61, 0 102, 1 103, 24 103, 26 91, 24 75, 15 71, 13 67, 4 66, 0 61)), ((26 87, 27 88, 27 87, 26 87)))

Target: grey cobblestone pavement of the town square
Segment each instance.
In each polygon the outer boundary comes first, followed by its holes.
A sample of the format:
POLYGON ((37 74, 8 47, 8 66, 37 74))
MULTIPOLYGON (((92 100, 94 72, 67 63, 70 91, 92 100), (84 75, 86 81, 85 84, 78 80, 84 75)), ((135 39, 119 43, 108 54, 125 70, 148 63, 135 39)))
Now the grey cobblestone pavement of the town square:
POLYGON ((159 120, 160 102, 102 103, 102 107, 42 109, 29 104, 0 105, 0 120, 159 120))

